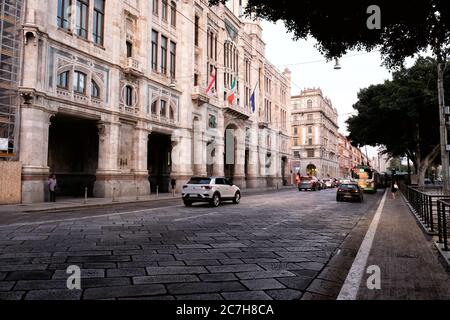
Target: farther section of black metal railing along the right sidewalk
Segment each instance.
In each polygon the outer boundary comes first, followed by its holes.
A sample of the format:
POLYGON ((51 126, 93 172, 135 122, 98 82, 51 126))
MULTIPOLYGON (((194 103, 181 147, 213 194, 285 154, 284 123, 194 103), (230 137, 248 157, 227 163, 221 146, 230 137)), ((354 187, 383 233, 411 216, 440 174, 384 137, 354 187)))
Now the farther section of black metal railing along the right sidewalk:
POLYGON ((439 201, 450 201, 450 195, 444 195, 440 188, 418 188, 404 184, 400 184, 400 190, 429 231, 439 232, 439 201))

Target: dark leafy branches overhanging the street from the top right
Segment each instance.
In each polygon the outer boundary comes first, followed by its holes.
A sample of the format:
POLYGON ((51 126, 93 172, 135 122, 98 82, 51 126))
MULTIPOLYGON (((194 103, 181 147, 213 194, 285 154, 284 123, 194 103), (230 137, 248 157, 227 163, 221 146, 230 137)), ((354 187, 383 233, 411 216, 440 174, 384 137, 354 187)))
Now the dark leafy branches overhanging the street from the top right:
MULTIPOLYGON (((211 5, 227 0, 209 0, 211 5)), ((444 190, 450 191, 447 129, 443 114, 443 74, 450 53, 450 9, 447 0, 248 0, 245 14, 272 22, 284 21, 294 39, 309 36, 327 58, 339 58, 349 50, 379 49, 384 65, 399 69, 406 58, 431 49, 437 60, 441 156, 444 190), (372 29, 367 21, 377 5, 381 27, 372 29)))

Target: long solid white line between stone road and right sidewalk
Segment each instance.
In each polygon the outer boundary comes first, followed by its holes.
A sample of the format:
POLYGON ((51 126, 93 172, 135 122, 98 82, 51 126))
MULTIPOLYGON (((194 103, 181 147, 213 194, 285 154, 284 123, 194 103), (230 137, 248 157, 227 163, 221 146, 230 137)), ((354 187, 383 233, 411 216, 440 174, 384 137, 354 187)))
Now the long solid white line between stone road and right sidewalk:
POLYGON ((345 279, 337 300, 356 300, 359 286, 361 285, 361 280, 367 265, 367 259, 369 258, 369 253, 372 249, 373 239, 375 238, 375 233, 380 223, 381 213, 383 212, 384 203, 386 202, 386 195, 387 191, 384 193, 383 199, 381 199, 377 212, 375 213, 372 223, 369 226, 369 230, 367 230, 366 236, 361 243, 361 247, 358 250, 355 261, 353 261, 350 272, 345 279))

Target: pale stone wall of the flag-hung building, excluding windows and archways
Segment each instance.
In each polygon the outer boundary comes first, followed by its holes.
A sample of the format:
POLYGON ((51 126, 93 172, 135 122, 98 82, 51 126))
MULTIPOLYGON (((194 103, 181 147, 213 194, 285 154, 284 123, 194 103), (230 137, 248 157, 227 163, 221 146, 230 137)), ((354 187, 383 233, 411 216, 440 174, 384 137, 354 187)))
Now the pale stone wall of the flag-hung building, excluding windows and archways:
MULTIPOLYGON (((152 13, 152 1, 107 0, 105 8, 105 31, 103 45, 97 45, 92 37, 93 1, 89 8, 89 30, 87 39, 75 33, 75 19, 71 20, 71 30, 57 27, 56 0, 28 0, 24 33, 24 78, 21 91, 23 99, 21 114, 21 150, 20 160, 23 163, 24 179, 23 201, 40 202, 45 198, 45 180, 49 174, 48 139, 52 116, 70 115, 90 121, 96 121, 99 128, 99 158, 96 196, 112 197, 115 195, 132 196, 136 186, 140 194, 150 192, 148 184, 147 157, 158 150, 147 150, 148 136, 152 132, 164 133, 172 140, 172 173, 171 176, 180 183, 180 187, 192 174, 207 173, 208 145, 214 141, 215 157, 213 173, 224 174, 223 153, 224 134, 229 124, 235 124, 242 132, 251 130, 249 163, 247 176, 244 172, 245 137, 240 138, 238 145, 238 163, 236 177, 241 186, 259 187, 281 181, 282 157, 290 158, 289 121, 287 128, 280 123, 280 112, 290 114, 290 74, 281 74, 271 67, 264 57, 264 43, 261 40, 261 27, 257 22, 244 21, 238 17, 239 6, 233 11, 219 6, 209 8, 206 1, 176 1, 177 24, 172 27, 152 13), (194 18, 200 19, 200 44, 194 46, 194 18), (127 22, 128 20, 130 22, 127 22), (227 108, 223 99, 223 43, 229 38, 225 19, 237 30, 236 46, 239 51, 239 73, 236 76, 240 83, 240 103, 227 108), (218 25, 218 62, 217 96, 205 96, 207 102, 199 103, 193 94, 202 92, 209 81, 206 72, 206 33, 209 23, 218 25), (128 27, 127 27, 128 26, 128 27), (131 29, 130 29, 131 28, 131 29), (152 30, 166 36, 177 44, 176 77, 152 70, 150 63, 152 30), (251 34, 250 34, 251 33, 251 34), (126 41, 133 44, 132 59, 126 56, 126 41), (250 55, 246 55, 250 53, 250 55), (243 101, 244 56, 251 57, 251 83, 253 90, 257 87, 256 112, 246 109, 243 101), (196 58, 197 57, 197 58, 196 58), (269 67, 265 67, 269 66, 269 67), (260 72, 261 70, 261 72, 260 72), (69 90, 61 90, 56 86, 58 73, 62 71, 82 71, 87 75, 87 92, 85 95, 75 94, 69 90), (199 75, 199 84, 194 86, 194 73, 199 75), (272 99, 273 121, 268 130, 271 135, 271 157, 274 159, 270 167, 266 167, 267 152, 265 139, 259 139, 260 109, 264 103, 264 74, 271 74, 274 87, 277 88, 272 99), (99 85, 101 96, 95 99, 90 95, 90 81, 99 85), (174 81, 175 80, 175 81, 174 81), (259 85, 257 86, 257 84, 259 85), (135 103, 132 108, 124 106, 124 87, 134 88, 135 103), (285 88, 286 97, 282 99, 279 88, 285 88), (166 99, 169 107, 173 107, 175 118, 163 118, 151 113, 151 104, 158 99, 166 99), (217 117, 217 128, 208 126, 209 115, 217 117), (194 134, 194 119, 198 121, 194 134), (126 125, 125 125, 126 124, 126 125), (124 142, 120 140, 122 130, 132 127, 129 145, 128 166, 119 166, 120 150, 124 150, 124 142), (280 133, 281 132, 281 133, 280 133), (284 149, 283 149, 284 147, 284 149), (194 162, 195 160, 195 162, 194 162), (196 162, 199 162, 196 165, 196 162), (116 189, 114 191, 114 189, 116 189)), ((71 9, 75 17, 75 7, 71 9)), ((170 17, 170 7, 168 11, 170 17)), ((160 43, 159 43, 160 45, 160 43)), ((158 47, 158 66, 160 64, 160 47, 158 47)), ((167 61, 169 64, 169 60, 167 61)), ((266 134, 266 132, 264 132, 266 134)), ((128 150, 128 149, 127 149, 128 150)))

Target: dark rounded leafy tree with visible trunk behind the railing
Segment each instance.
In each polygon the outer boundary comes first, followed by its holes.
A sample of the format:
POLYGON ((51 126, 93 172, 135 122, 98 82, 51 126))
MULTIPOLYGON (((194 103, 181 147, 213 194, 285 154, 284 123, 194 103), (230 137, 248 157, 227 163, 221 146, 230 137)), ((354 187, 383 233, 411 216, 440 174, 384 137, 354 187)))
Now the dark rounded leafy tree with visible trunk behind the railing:
MULTIPOLYGON (((437 62, 419 58, 392 81, 362 89, 353 106, 358 114, 347 120, 349 139, 356 145, 383 146, 391 157, 414 163, 419 185, 440 154, 436 82, 437 62)), ((446 73, 450 81, 450 74, 446 73)))

